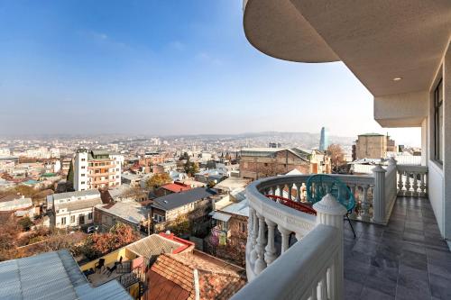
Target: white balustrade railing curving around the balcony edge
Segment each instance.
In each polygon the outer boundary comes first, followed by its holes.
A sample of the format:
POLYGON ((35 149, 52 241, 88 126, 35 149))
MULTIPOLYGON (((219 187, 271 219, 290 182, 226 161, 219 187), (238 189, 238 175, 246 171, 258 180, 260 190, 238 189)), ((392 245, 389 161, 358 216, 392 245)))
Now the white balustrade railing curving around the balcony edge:
MULTIPOLYGON (((354 193, 354 219, 387 223, 397 195, 427 194, 427 174, 427 167, 397 166, 396 160, 390 159, 386 168, 375 166, 373 176, 332 176, 354 193)), ((247 186, 246 272, 250 283, 234 299, 343 298, 345 207, 327 195, 313 205, 315 216, 267 196, 305 202, 308 177, 270 177, 247 186)))

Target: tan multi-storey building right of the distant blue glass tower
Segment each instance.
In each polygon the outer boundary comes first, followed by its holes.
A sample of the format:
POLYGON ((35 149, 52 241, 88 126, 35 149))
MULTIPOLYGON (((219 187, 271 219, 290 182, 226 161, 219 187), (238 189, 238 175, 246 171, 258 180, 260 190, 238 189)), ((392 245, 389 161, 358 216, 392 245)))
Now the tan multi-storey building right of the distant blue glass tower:
POLYGON ((387 152, 396 152, 395 141, 390 136, 379 133, 359 134, 355 141, 355 159, 381 159, 387 152))

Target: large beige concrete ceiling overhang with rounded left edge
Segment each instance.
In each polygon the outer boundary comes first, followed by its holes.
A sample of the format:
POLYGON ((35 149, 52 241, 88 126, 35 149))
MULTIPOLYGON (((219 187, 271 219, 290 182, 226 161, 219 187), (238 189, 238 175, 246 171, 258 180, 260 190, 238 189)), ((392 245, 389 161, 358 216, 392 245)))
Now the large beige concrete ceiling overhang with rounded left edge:
POLYGON ((244 5, 244 32, 255 48, 293 61, 342 60, 374 96, 428 91, 451 37, 451 0, 244 5))

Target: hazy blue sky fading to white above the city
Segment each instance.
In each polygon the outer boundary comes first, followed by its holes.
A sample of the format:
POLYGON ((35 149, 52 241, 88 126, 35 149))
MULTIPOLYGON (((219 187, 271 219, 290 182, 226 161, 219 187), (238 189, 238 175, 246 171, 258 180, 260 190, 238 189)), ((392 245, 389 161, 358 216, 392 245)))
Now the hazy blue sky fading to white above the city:
POLYGON ((0 1, 0 134, 390 132, 342 63, 255 50, 242 0, 0 1))

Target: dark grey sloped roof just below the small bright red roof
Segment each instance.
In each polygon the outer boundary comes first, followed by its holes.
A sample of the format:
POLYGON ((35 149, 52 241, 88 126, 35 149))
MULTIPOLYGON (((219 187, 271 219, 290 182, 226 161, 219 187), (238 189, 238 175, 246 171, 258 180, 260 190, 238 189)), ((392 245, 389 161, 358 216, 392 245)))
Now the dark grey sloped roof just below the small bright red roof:
POLYGON ((162 197, 155 198, 153 199, 152 206, 164 211, 170 211, 171 209, 188 205, 211 195, 216 195, 216 192, 210 188, 197 187, 190 189, 189 191, 163 195, 162 197))

